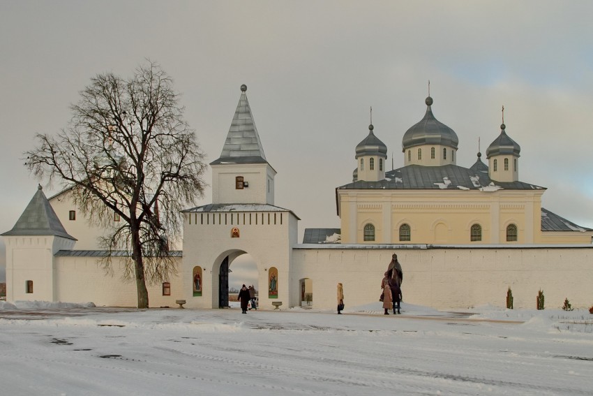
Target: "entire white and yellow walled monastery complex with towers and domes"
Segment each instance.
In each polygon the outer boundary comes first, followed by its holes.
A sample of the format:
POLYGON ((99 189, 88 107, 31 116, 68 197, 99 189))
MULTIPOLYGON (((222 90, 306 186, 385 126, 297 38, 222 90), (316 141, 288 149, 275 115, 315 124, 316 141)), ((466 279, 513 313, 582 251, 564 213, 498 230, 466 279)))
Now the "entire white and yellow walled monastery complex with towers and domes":
MULTIPOLYGON (((264 155, 246 95, 241 96, 220 157, 213 161, 212 203, 183 216, 183 250, 172 251, 177 276, 149 286, 151 307, 228 306, 233 261, 257 265, 260 307, 335 309, 336 285, 346 307, 376 302, 391 255, 403 267, 404 301, 440 309, 484 304, 535 308, 593 305, 593 230, 541 207, 546 187, 519 179, 520 146, 502 124, 476 163, 456 163, 458 138, 426 114, 403 134, 404 166, 386 170, 387 147, 369 126, 353 152, 352 182, 338 186, 340 228, 306 229, 274 203, 276 170, 264 155), (354 161, 353 161, 354 163, 354 161), (278 305, 276 304, 276 305, 278 305)), ((223 135, 221 135, 221 140, 223 135)), ((314 161, 314 159, 312 159, 314 161)), ((345 175, 345 177, 350 178, 345 175)), ((114 221, 118 219, 114 218, 114 221)), ((97 237, 68 191, 47 198, 39 187, 6 242, 7 300, 94 302, 135 307, 136 286, 123 261, 105 272, 97 237)))

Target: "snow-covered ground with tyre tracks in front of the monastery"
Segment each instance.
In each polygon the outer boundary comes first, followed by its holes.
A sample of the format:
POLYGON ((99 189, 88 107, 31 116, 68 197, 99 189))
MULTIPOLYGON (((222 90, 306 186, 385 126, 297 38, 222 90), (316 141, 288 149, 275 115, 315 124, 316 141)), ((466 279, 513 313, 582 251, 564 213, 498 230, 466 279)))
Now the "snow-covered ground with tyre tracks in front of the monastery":
POLYGON ((592 395, 589 311, 0 302, 1 395, 592 395))

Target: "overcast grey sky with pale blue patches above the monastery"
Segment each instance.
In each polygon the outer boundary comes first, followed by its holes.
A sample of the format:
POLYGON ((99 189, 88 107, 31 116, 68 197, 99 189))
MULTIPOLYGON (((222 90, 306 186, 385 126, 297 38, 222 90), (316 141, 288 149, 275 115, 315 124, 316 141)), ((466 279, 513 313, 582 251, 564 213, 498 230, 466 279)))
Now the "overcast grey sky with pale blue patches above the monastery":
POLYGON ((36 192, 22 160, 33 136, 67 126, 91 77, 128 77, 145 58, 174 78, 208 162, 248 86, 276 205, 301 218, 299 235, 339 227, 335 188, 352 180, 370 106, 388 163, 403 166, 428 80, 459 166, 476 161, 478 139, 486 159, 504 105, 520 180, 593 228, 591 15, 591 1, 2 1, 0 232, 36 192))

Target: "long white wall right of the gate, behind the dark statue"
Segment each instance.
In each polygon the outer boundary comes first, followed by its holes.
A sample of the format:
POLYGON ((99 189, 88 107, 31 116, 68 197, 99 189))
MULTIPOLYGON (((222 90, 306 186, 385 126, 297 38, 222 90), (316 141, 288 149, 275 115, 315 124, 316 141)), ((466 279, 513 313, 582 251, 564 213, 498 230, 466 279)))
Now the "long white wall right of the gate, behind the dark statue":
POLYGON ((291 287, 299 279, 313 281, 313 307, 336 307, 336 285, 343 284, 345 305, 377 302, 381 280, 398 254, 403 267, 403 298, 413 305, 465 309, 479 305, 506 307, 506 291, 515 308, 536 308, 541 289, 546 307, 560 308, 568 298, 573 307, 593 302, 593 247, 315 247, 294 249, 291 287), (578 279, 578 281, 576 281, 578 279))

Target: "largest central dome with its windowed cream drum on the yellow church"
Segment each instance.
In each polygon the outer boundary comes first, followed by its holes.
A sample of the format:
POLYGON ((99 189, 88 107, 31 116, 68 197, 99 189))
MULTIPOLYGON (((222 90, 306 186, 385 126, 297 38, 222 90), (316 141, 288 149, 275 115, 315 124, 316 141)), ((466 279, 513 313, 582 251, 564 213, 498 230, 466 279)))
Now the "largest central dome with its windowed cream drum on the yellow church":
POLYGON ((430 108, 433 98, 425 101, 428 108, 420 122, 406 131, 402 139, 404 165, 456 165, 459 139, 453 129, 439 122, 430 108))

